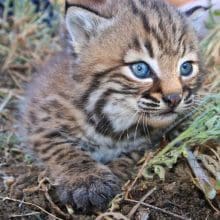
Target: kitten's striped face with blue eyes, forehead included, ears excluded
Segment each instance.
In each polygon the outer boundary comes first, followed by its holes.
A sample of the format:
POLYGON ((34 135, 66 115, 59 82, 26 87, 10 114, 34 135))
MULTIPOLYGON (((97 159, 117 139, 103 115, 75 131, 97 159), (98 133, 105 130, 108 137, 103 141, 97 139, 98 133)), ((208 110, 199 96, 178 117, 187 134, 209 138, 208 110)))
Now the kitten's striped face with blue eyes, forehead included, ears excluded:
POLYGON ((164 127, 195 104, 201 78, 197 39, 165 3, 129 2, 81 57, 92 72, 88 77, 99 80, 86 109, 106 115, 115 131, 139 120, 164 127))

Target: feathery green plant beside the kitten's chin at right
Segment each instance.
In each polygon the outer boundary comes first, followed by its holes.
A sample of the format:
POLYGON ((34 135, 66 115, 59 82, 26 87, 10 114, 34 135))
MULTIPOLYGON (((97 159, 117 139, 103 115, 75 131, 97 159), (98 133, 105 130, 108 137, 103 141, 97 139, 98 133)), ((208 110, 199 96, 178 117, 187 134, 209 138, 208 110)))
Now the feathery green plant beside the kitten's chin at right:
POLYGON ((164 179, 165 168, 172 168, 180 156, 187 157, 187 148, 208 140, 220 141, 220 94, 207 96, 191 119, 188 128, 148 162, 143 172, 146 178, 153 172, 164 179))

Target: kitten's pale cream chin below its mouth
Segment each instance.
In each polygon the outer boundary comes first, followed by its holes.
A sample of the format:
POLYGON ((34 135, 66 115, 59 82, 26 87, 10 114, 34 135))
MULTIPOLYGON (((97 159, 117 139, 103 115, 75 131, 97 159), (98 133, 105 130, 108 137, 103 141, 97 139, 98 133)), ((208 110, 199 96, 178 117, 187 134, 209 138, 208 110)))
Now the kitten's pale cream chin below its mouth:
POLYGON ((177 118, 177 113, 149 115, 146 117, 146 124, 154 128, 164 128, 172 124, 177 118))

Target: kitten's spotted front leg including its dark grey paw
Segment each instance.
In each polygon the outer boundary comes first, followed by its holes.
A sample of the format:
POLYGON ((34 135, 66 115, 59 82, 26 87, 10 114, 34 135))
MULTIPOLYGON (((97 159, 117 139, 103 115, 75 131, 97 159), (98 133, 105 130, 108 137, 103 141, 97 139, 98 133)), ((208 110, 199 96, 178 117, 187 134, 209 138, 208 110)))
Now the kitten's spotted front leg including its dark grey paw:
POLYGON ((53 157, 41 158, 55 179, 61 201, 84 213, 106 209, 120 192, 117 177, 80 149, 68 146, 58 152, 53 157))

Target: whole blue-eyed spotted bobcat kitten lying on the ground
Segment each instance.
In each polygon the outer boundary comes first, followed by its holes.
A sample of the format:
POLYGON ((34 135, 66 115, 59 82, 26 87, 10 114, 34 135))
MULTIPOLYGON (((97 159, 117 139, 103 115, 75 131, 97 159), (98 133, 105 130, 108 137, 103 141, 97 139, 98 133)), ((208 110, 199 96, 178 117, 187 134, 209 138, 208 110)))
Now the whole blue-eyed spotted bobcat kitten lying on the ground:
POLYGON ((174 7, 111 2, 112 16, 68 8, 69 46, 34 78, 23 112, 60 200, 87 213, 120 192, 121 157, 146 148, 148 129, 191 110, 202 76, 195 33, 174 7))

